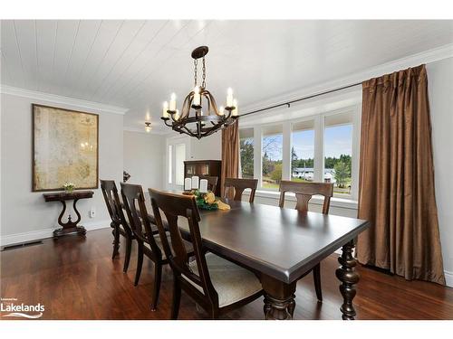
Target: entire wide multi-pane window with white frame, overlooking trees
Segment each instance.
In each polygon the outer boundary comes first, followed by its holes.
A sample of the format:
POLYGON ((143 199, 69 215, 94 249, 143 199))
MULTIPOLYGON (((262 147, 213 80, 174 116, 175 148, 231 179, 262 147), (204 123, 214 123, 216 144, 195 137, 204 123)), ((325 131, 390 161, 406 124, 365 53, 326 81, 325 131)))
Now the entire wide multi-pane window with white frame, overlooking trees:
POLYGON ((357 103, 313 116, 293 110, 273 124, 245 120, 239 130, 242 177, 255 176, 261 190, 274 191, 281 180, 328 182, 334 197, 357 200, 360 109, 357 103))

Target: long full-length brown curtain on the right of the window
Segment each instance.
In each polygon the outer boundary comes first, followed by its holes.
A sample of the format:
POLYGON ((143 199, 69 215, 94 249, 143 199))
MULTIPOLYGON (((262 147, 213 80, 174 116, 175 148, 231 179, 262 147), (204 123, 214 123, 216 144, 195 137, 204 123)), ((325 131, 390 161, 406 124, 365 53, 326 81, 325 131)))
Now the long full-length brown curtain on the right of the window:
POLYGON ((425 65, 362 83, 357 258, 445 285, 425 65))

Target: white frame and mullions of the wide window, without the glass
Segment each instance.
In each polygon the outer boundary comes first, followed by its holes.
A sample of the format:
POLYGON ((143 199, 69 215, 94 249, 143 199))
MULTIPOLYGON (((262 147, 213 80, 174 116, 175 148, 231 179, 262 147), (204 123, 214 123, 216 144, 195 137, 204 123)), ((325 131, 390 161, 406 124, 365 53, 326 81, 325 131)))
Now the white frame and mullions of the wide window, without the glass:
MULTIPOLYGON (((298 112, 294 110, 293 117, 297 116, 298 112)), ((335 196, 333 200, 338 201, 352 201, 357 202, 359 193, 359 157, 360 157, 360 133, 361 133, 361 103, 345 106, 344 108, 324 110, 321 113, 306 115, 300 110, 300 116, 290 119, 278 119, 272 122, 254 123, 253 119, 247 120, 242 128, 254 129, 254 176, 258 179, 258 193, 267 192, 272 193, 275 190, 265 189, 262 187, 263 182, 263 129, 265 127, 282 125, 283 126, 283 166, 282 166, 282 180, 291 180, 291 147, 293 146, 293 125, 307 120, 313 120, 314 130, 314 161, 313 161, 313 181, 323 182, 323 168, 324 168, 324 129, 325 117, 333 116, 336 114, 352 114, 352 187, 351 196, 338 197, 335 196), (257 151, 259 150, 259 151, 257 151)), ((348 123, 349 125, 349 123, 348 123)), ((336 125, 334 125, 336 126, 336 125)), ((239 150, 240 151, 240 150, 239 150)))

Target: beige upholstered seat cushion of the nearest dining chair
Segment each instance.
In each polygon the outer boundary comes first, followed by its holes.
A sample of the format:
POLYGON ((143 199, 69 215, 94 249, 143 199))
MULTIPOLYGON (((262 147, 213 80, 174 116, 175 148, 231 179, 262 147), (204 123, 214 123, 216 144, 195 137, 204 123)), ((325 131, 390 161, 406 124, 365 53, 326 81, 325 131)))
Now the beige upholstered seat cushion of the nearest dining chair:
MULTIPOLYGON (((206 261, 212 285, 217 291, 219 307, 234 304, 262 290, 259 279, 248 269, 241 268, 213 253, 207 253, 206 261)), ((198 275, 196 260, 191 261, 189 267, 198 275)), ((184 278, 184 276, 182 277, 184 278)), ((186 280, 203 293, 202 287, 188 278, 186 280)))

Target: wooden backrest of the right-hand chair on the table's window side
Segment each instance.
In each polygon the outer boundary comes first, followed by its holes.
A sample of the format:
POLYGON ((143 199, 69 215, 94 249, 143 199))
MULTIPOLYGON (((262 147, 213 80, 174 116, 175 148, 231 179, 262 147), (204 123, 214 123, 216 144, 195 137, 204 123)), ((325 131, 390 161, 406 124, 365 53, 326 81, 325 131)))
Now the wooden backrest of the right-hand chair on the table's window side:
POLYGON ((331 198, 333 196, 333 184, 297 183, 282 180, 280 182, 280 201, 278 203, 280 207, 284 207, 284 194, 287 192, 295 193, 295 209, 302 212, 308 212, 308 202, 312 199, 313 195, 323 195, 323 214, 329 213, 331 198))

